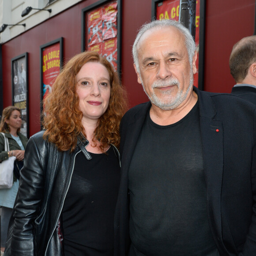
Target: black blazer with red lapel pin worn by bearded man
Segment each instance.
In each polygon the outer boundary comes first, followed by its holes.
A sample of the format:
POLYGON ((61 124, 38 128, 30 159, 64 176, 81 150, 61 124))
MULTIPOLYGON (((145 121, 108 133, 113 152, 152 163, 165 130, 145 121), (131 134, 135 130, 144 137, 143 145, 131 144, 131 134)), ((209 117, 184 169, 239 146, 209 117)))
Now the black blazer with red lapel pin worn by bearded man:
MULTIPOLYGON (((256 109, 232 94, 198 90, 207 215, 220 255, 256 255, 256 109)), ((129 247, 128 169, 151 102, 130 109, 120 126, 121 181, 115 255, 129 247)), ((143 161, 143 159, 142 159, 143 161)), ((166 195, 168 196, 168 195, 166 195)))

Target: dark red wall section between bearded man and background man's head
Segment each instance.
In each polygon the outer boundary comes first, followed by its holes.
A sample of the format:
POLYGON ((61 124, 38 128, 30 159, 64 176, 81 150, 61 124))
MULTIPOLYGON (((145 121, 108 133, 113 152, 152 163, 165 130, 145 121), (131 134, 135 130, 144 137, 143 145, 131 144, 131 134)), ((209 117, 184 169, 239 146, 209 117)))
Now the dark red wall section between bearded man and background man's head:
POLYGON ((230 93, 230 53, 237 41, 253 35, 255 0, 206 2, 204 90, 230 93))

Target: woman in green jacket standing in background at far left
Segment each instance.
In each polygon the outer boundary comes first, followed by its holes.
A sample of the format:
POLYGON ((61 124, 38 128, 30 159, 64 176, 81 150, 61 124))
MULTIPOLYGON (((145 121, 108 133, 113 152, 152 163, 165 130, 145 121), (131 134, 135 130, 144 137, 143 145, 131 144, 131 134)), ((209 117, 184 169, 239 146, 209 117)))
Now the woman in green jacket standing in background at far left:
MULTIPOLYGON (((0 132, 3 132, 8 138, 10 151, 4 151, 4 136, 0 133, 0 162, 6 160, 9 156, 15 156, 16 161, 23 165, 25 147, 28 139, 20 133, 22 124, 20 109, 15 106, 8 106, 3 110, 0 122, 0 132)), ((14 163, 16 164, 16 163, 14 163)), ((19 188, 19 180, 13 175, 13 185, 11 188, 0 189, 1 213, 1 255, 4 253, 4 247, 7 237, 8 222, 11 218, 11 211, 19 188)))

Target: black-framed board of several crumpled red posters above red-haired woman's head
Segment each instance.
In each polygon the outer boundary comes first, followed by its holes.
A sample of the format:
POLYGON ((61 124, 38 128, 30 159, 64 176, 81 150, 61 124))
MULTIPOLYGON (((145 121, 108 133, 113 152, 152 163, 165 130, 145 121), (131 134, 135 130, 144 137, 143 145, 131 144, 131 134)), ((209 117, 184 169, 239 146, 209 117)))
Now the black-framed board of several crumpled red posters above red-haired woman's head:
POLYGON ((100 0, 82 10, 82 52, 96 51, 120 74, 121 0, 100 0))

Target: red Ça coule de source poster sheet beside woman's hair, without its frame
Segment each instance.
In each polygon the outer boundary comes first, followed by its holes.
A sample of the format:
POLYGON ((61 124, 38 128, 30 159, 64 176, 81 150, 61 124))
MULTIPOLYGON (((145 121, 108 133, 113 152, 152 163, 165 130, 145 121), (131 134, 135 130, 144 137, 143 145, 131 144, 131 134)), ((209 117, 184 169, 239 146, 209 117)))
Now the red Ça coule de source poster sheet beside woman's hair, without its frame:
POLYGON ((60 73, 60 43, 50 45, 42 51, 43 99, 51 92, 52 85, 60 73))

